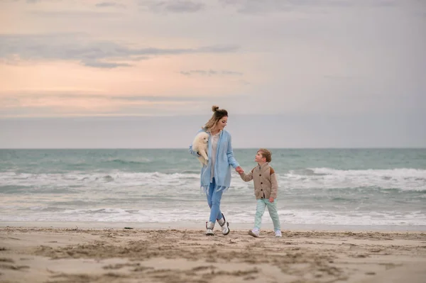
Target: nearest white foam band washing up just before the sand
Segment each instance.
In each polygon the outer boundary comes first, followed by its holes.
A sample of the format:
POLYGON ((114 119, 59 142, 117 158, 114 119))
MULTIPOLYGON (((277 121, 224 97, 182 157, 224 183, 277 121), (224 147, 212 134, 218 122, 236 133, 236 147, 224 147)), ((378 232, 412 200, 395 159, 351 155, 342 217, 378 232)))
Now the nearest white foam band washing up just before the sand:
MULTIPOLYGON (((229 221, 253 223, 253 209, 224 211, 229 221)), ((280 222, 285 224, 310 225, 359 225, 359 226, 426 226, 425 211, 278 211, 280 222)), ((99 221, 99 222, 146 222, 146 223, 204 223, 209 213, 205 207, 188 209, 65 209, 58 211, 16 211, 0 213, 0 221, 99 221)), ((272 223, 265 211, 263 223, 272 223)))

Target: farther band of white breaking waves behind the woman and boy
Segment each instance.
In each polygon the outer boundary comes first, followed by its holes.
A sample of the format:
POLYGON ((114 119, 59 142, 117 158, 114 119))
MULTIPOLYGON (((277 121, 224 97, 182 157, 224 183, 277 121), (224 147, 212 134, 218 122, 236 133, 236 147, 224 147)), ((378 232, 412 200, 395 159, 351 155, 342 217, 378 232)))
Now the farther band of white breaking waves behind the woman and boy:
MULTIPOLYGON (((401 191, 426 191, 426 170, 400 168, 391 170, 337 170, 308 168, 278 173, 280 188, 285 189, 342 189, 377 187, 401 191)), ((30 189, 114 189, 151 187, 197 189, 200 174, 160 172, 83 172, 31 174, 0 172, 0 185, 28 187, 30 189)), ((233 172, 232 192, 247 192, 252 182, 243 182, 233 172)), ((233 194, 231 192, 231 194, 233 194)))

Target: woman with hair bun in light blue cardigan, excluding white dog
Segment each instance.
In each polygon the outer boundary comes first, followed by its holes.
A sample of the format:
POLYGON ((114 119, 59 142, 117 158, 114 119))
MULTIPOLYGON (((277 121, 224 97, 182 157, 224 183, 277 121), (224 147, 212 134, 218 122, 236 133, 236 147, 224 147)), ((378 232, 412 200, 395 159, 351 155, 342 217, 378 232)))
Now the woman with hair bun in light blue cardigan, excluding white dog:
MULTIPOLYGON (((210 218, 206 222, 206 235, 214 235, 214 223, 219 223, 224 235, 229 234, 229 223, 224 214, 220 211, 220 200, 222 194, 231 184, 231 166, 236 172, 243 172, 234 158, 232 151, 231 135, 224 130, 228 121, 228 112, 225 109, 219 109, 218 106, 212 106, 213 116, 198 131, 204 131, 209 134, 209 145, 207 155, 209 163, 201 169, 201 187, 207 195, 207 203, 210 206, 210 218)), ((197 152, 192 150, 192 155, 200 157, 197 152)))

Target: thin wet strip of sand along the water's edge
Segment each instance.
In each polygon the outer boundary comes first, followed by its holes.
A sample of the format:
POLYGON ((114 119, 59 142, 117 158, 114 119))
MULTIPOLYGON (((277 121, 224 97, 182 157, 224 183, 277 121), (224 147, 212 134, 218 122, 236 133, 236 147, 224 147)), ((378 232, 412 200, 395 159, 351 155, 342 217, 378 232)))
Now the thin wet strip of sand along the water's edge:
MULTIPOLYGON (((229 223, 231 230, 247 230, 253 228, 253 223, 229 223)), ((124 228, 131 227, 142 230, 169 230, 190 229, 202 230, 204 223, 178 223, 178 222, 107 222, 107 221, 0 221, 0 228, 5 227, 25 228, 124 228)), ((216 225, 218 226, 218 225, 216 225)), ((352 231, 352 232, 408 232, 425 233, 426 226, 359 226, 359 225, 310 225, 310 224, 285 224, 281 223, 282 231, 352 231)), ((263 231, 272 231, 272 223, 263 223, 263 231)))

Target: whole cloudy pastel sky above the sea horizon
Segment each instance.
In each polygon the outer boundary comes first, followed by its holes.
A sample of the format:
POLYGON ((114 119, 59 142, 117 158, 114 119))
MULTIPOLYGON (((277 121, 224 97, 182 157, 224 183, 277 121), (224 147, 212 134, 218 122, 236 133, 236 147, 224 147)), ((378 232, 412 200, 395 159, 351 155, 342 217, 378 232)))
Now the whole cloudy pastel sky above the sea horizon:
POLYGON ((0 0, 0 148, 426 147, 425 0, 0 0))

